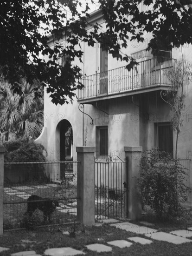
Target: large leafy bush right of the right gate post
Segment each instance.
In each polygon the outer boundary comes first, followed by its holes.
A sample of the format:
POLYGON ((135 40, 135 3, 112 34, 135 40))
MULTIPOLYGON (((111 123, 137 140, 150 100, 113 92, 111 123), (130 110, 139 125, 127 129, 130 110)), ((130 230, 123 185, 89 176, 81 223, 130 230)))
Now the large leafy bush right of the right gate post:
POLYGON ((180 202, 186 200, 185 170, 165 152, 147 150, 141 158, 139 184, 142 207, 148 205, 156 216, 172 218, 180 212, 180 202))

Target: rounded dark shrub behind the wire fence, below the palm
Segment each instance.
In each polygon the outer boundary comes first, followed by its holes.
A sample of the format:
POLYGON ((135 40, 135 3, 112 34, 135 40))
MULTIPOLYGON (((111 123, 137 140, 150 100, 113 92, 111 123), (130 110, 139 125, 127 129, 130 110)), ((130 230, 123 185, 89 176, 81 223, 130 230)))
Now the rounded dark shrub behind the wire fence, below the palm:
POLYGON ((43 145, 37 144, 34 141, 19 139, 17 141, 8 141, 4 146, 6 148, 5 163, 17 162, 5 165, 5 182, 48 181, 45 175, 44 164, 35 163, 45 162, 46 150, 43 145))

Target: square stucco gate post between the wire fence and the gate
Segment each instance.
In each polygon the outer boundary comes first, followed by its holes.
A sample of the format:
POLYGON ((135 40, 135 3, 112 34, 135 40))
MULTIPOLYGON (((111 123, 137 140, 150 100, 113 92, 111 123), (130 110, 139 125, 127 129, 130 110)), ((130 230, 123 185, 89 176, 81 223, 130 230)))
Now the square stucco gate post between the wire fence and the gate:
POLYGON ((95 147, 77 147, 77 220, 95 223, 95 147))

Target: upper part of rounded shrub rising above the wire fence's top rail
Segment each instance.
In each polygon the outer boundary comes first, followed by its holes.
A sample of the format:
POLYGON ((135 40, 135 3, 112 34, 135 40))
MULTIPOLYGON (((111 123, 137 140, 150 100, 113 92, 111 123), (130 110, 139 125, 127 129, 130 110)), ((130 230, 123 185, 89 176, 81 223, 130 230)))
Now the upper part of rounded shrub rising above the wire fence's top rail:
POLYGON ((18 139, 4 143, 5 162, 45 162, 46 150, 34 141, 18 139))

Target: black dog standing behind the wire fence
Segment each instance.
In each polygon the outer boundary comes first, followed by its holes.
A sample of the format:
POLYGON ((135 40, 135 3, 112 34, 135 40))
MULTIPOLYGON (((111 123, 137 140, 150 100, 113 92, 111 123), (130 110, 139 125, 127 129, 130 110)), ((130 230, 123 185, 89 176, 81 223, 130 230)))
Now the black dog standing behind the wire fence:
POLYGON ((27 199, 27 211, 25 213, 29 214, 31 217, 33 212, 36 209, 39 209, 43 212, 44 221, 47 220, 47 216, 49 222, 51 221, 51 214, 54 212, 56 207, 58 207, 58 201, 53 201, 50 198, 42 198, 38 195, 30 195, 27 199), (34 202, 33 202, 34 201, 34 202))

